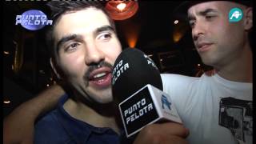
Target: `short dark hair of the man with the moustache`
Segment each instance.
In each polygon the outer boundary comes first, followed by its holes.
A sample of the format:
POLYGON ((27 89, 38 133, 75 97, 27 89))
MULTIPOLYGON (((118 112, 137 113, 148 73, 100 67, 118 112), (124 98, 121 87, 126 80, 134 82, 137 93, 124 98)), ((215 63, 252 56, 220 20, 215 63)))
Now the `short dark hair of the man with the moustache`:
POLYGON ((102 3, 97 1, 51 1, 47 2, 47 6, 50 7, 51 10, 51 16, 50 19, 53 20, 53 25, 48 27, 48 30, 46 30, 46 45, 50 51, 50 57, 55 57, 55 54, 58 54, 57 48, 54 47, 54 35, 53 30, 56 23, 58 23, 59 18, 62 16, 62 14, 66 14, 70 11, 78 11, 83 10, 86 8, 94 7, 98 10, 102 10, 104 14, 106 14, 110 26, 114 28, 114 32, 116 32, 114 21, 110 18, 110 15, 105 10, 104 6, 102 6, 102 3))

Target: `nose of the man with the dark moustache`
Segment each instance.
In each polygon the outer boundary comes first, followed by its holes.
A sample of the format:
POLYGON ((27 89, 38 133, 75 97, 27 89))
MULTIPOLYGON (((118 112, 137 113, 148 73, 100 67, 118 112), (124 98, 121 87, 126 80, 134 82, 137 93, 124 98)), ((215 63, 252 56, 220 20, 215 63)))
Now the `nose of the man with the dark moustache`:
POLYGON ((104 59, 105 54, 102 52, 101 48, 98 47, 96 44, 90 43, 86 46, 85 61, 87 66, 98 64, 99 62, 102 62, 104 59))

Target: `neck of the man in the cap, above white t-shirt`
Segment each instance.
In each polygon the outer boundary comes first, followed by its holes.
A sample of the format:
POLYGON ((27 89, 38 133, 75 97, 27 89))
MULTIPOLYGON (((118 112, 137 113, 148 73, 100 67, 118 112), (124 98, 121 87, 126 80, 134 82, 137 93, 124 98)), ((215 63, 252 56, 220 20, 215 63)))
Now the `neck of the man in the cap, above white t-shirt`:
POLYGON ((253 79, 253 55, 249 48, 241 54, 240 58, 235 59, 227 65, 216 68, 216 72, 227 80, 234 82, 252 82, 253 79))

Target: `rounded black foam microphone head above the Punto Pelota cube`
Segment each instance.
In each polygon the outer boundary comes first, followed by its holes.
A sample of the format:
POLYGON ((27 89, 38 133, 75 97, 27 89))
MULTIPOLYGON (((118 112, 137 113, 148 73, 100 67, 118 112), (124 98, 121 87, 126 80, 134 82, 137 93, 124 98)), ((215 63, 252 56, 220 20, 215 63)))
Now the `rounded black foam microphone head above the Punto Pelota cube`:
POLYGON ((118 103, 147 84, 162 90, 157 66, 141 50, 134 48, 127 48, 119 54, 114 62, 111 83, 114 101, 118 103))

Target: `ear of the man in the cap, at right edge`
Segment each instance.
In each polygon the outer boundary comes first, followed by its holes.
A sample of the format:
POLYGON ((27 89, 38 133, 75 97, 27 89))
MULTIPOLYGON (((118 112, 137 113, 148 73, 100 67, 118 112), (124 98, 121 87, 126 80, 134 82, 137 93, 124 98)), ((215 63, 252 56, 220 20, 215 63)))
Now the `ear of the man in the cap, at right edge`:
POLYGON ((253 27, 253 8, 246 7, 244 10, 244 28, 245 30, 250 30, 253 27))

